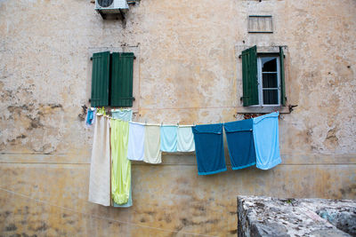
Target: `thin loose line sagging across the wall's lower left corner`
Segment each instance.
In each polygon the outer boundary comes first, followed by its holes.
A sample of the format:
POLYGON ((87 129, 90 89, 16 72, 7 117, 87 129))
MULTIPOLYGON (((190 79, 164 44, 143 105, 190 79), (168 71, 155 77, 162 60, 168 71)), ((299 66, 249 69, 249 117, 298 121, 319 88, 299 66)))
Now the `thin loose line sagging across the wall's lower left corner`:
POLYGON ((61 207, 61 206, 55 205, 53 203, 50 203, 48 201, 42 201, 42 200, 30 197, 30 196, 28 196, 26 194, 20 194, 20 193, 14 192, 12 190, 5 189, 3 187, 0 187, 0 190, 4 191, 6 193, 9 193, 9 194, 14 194, 14 195, 21 196, 23 198, 27 198, 27 199, 32 200, 32 201, 44 203, 44 204, 47 204, 49 206, 52 206, 52 207, 55 207, 55 208, 58 208, 58 209, 64 209, 64 210, 67 210, 67 211, 70 211, 70 212, 74 212, 74 213, 81 214, 81 215, 88 216, 88 217, 93 217, 93 218, 96 218, 96 219, 103 219, 103 220, 117 222, 117 223, 121 223, 121 224, 125 224, 125 225, 135 225, 135 226, 139 226, 139 227, 142 227, 142 228, 148 228, 148 229, 152 229, 152 230, 158 230, 158 231, 170 232, 170 233, 183 233, 183 234, 190 234, 190 235, 194 235, 194 236, 207 236, 207 237, 216 236, 216 235, 208 235, 208 234, 200 234, 200 233, 178 232, 178 231, 169 230, 169 229, 163 229, 163 228, 152 227, 152 226, 147 226, 147 225, 139 225, 139 224, 135 224, 135 223, 132 223, 132 222, 120 221, 120 220, 113 219, 113 218, 108 218, 108 217, 101 217, 101 216, 98 216, 98 215, 92 215, 92 214, 88 214, 88 213, 85 213, 85 212, 81 212, 81 211, 78 211, 76 209, 69 209, 69 208, 61 207))

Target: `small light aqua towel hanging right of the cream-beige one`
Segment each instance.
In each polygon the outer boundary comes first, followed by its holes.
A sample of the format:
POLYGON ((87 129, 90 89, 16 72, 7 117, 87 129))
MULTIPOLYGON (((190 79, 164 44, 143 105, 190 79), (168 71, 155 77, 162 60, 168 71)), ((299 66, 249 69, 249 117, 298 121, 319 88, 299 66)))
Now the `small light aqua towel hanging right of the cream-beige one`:
POLYGON ((161 126, 161 151, 174 153, 177 151, 177 126, 161 126))

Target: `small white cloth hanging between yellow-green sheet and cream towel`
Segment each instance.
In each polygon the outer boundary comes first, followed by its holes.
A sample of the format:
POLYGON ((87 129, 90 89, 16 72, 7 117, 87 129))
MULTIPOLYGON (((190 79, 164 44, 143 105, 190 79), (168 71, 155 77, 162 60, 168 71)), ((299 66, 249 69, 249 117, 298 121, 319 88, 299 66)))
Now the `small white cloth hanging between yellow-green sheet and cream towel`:
POLYGON ((143 161, 145 126, 129 122, 127 159, 143 161))

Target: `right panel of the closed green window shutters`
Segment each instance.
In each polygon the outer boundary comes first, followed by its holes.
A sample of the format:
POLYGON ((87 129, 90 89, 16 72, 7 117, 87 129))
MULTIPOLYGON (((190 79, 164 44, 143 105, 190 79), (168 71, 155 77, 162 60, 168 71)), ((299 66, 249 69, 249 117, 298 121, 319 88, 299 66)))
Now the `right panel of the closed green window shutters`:
POLYGON ((111 106, 133 107, 134 53, 113 52, 111 55, 111 106))

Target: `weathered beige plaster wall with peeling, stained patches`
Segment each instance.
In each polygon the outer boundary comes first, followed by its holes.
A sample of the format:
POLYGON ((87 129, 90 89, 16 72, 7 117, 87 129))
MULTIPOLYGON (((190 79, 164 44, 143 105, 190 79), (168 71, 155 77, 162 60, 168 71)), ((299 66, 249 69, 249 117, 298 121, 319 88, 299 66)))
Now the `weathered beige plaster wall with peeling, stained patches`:
POLYGON ((0 1, 5 236, 224 236, 236 233, 238 194, 356 197, 355 1, 142 0, 125 22, 101 20, 93 7, 0 1), (271 14, 274 33, 247 34, 250 14, 271 14), (198 177, 192 154, 164 154, 158 166, 134 163, 134 207, 86 201, 90 52, 139 52, 137 120, 228 122, 241 106, 243 44, 287 45, 288 103, 298 107, 280 116, 283 164, 198 177))

